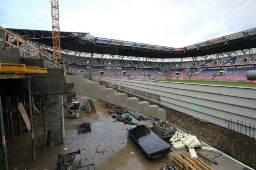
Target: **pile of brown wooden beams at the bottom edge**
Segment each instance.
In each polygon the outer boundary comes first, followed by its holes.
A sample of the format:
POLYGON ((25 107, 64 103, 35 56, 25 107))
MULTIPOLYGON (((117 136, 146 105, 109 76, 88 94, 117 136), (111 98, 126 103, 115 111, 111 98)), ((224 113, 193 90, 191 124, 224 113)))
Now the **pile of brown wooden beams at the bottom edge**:
POLYGON ((179 170, 213 170, 210 166, 199 160, 198 158, 190 158, 185 153, 177 154, 172 157, 172 162, 179 170))

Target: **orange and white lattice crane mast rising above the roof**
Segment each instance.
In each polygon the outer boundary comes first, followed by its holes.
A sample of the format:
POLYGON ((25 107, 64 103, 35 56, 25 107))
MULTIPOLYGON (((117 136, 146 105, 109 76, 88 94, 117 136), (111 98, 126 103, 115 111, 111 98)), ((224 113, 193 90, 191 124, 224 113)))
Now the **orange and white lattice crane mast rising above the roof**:
POLYGON ((52 49, 53 58, 60 59, 60 17, 59 17, 59 1, 51 0, 52 8, 52 49))

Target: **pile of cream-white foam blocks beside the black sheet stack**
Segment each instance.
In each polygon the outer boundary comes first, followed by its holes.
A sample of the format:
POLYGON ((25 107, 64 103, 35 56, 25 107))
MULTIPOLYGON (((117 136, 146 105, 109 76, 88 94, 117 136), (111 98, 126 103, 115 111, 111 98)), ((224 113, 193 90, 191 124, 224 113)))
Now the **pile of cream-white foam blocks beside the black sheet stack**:
POLYGON ((169 140, 172 143, 174 149, 182 149, 184 146, 188 149, 202 147, 202 143, 194 135, 186 135, 184 133, 176 131, 174 135, 169 140), (182 143, 183 145, 181 145, 182 143))

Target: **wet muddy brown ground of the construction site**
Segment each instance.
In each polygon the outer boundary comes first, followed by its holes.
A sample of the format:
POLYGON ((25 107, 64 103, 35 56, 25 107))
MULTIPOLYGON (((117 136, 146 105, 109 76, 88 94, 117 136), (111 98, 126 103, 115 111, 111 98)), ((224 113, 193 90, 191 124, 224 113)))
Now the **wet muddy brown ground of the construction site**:
MULTIPOLYGON (((81 96, 82 99, 88 98, 81 96)), ((131 97, 128 94, 129 97, 131 97)), ((140 99, 144 101, 144 99, 140 99)), ((42 115, 37 115, 34 122, 34 143, 36 160, 32 160, 31 133, 26 130, 24 122, 22 123, 22 135, 18 132, 18 123, 14 123, 15 141, 12 143, 10 127, 5 126, 6 145, 8 150, 8 166, 10 170, 54 170, 58 153, 65 154, 81 149, 82 165, 94 163, 97 170, 158 170, 161 166, 166 166, 162 161, 171 162, 173 154, 162 156, 154 160, 148 160, 142 154, 138 146, 128 137, 126 128, 130 125, 124 125, 121 122, 113 122, 113 118, 108 115, 112 111, 108 107, 103 107, 103 102, 93 99, 96 113, 80 114, 78 119, 67 119, 67 111, 64 109, 65 142, 63 145, 55 147, 47 146, 46 150, 41 150, 42 138, 42 115), (78 134, 77 127, 80 123, 91 123, 92 131, 78 134), (39 130, 40 129, 40 130, 39 130), (68 147, 68 150, 63 150, 68 147)), ((150 104, 153 104, 150 102, 150 104)), ((172 110, 167 107, 166 120, 186 133, 196 135, 201 141, 209 145, 226 147, 227 137, 226 129, 214 124, 203 122, 186 114, 172 110)), ((46 126, 49 129, 48 106, 46 106, 46 126)), ((3 109, 4 111, 4 109, 3 109)), ((28 112, 28 109, 27 109, 28 112)), ((15 109, 13 111, 14 122, 16 122, 15 109)), ((150 117, 148 117, 150 118, 150 117)), ((147 121, 137 121, 138 125, 150 125, 154 119, 147 121)), ((1 151, 1 150, 0 150, 1 151)), ((0 157, 0 170, 3 169, 3 159, 0 157)))

